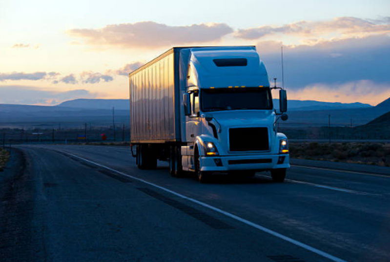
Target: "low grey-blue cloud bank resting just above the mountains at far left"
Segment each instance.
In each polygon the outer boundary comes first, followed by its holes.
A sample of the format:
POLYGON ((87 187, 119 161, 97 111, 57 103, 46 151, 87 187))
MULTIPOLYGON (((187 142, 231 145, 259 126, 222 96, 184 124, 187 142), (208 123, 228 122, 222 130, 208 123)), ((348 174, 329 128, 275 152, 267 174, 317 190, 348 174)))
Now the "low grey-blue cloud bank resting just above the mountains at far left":
POLYGON ((0 86, 0 103, 25 105, 56 105, 77 98, 97 98, 104 94, 91 93, 84 89, 65 92, 40 90, 30 86, 0 86))

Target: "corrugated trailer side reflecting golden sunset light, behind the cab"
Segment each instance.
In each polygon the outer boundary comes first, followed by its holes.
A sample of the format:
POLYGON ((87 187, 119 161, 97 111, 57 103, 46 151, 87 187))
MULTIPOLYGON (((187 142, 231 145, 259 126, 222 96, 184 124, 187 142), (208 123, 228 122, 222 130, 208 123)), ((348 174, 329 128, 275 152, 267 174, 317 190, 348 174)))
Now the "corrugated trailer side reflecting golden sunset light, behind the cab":
POLYGON ((174 48, 130 73, 132 143, 180 141, 179 53, 174 48))

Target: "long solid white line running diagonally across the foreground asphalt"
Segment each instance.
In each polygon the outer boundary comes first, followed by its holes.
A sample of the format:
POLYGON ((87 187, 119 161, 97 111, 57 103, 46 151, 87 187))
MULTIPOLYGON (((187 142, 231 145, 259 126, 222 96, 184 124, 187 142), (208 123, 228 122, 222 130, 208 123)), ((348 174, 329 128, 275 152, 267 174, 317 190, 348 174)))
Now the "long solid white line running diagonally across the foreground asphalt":
POLYGON ((123 176, 126 176, 126 177, 129 177, 129 178, 138 180, 138 181, 140 181, 140 182, 143 182, 143 183, 145 183, 145 184, 147 184, 147 185, 149 185, 149 186, 157 187, 157 188, 159 188, 159 189, 161 189, 161 190, 164 190, 165 192, 171 193, 171 194, 173 194, 173 195, 175 195, 175 196, 178 196, 178 197, 183 198, 183 199, 185 199, 185 200, 191 201, 191 202, 196 203, 196 204, 198 204, 198 205, 200 205, 200 206, 204 206, 204 207, 209 208, 209 209, 211 209, 211 210, 213 210, 213 211, 216 211, 216 212, 218 212, 218 213, 220 213, 220 214, 226 215, 227 217, 230 217, 230 218, 232 218, 232 219, 235 219, 235 220, 237 220, 237 221, 240 221, 240 222, 242 222, 242 223, 244 223, 244 224, 246 224, 246 225, 252 226, 252 227, 254 227, 254 228, 256 228, 256 229, 259 229, 259 230, 261 230, 261 231, 263 231, 263 232, 266 232, 266 233, 268 233, 268 234, 270 234, 270 235, 272 235, 272 236, 275 236, 275 237, 280 238, 280 239, 283 239, 283 240, 285 240, 285 241, 287 241, 287 242, 289 242, 289 243, 292 243, 292 244, 295 244, 295 245, 297 245, 297 246, 300 246, 300 247, 302 247, 302 248, 304 248, 304 249, 306 249, 306 250, 308 250, 308 251, 311 251, 311 252, 313 252, 313 253, 315 253, 315 254, 317 254, 317 255, 320 255, 320 256, 322 256, 322 257, 324 257, 324 258, 327 258, 327 259, 329 259, 329 260, 331 260, 331 261, 335 261, 335 262, 347 262, 347 261, 345 261, 345 260, 342 260, 342 259, 340 259, 340 258, 337 258, 337 257, 335 257, 335 256, 332 256, 332 255, 330 255, 330 254, 328 254, 328 253, 326 253, 326 252, 324 252, 324 251, 321 251, 321 250, 319 250, 319 249, 317 249, 317 248, 314 248, 314 247, 309 246, 309 245, 307 245, 307 244, 305 244, 305 243, 299 242, 299 241, 294 240, 294 239, 292 239, 292 238, 289 238, 289 237, 287 237, 287 236, 285 236, 285 235, 282 235, 282 234, 280 234, 280 233, 278 233, 278 232, 275 232, 275 231, 273 231, 273 230, 271 230, 271 229, 268 229, 267 227, 264 227, 264 226, 261 226, 261 225, 257 225, 257 224, 255 224, 255 223, 253 223, 253 222, 250 222, 250 221, 248 221, 248 220, 246 220, 246 219, 244 219, 244 218, 241 218, 241 217, 239 217, 239 216, 233 215, 233 214, 231 214, 231 213, 229 213, 229 212, 226 212, 226 211, 224 211, 224 210, 222 210, 222 209, 219 209, 219 208, 217 208, 217 207, 210 206, 210 205, 208 205, 208 204, 205 204, 205 203, 200 202, 200 201, 198 201, 198 200, 195 200, 195 199, 193 199, 193 198, 186 197, 185 195, 179 194, 179 193, 177 193, 177 192, 175 192, 175 191, 172 191, 172 190, 170 190, 170 189, 168 189, 168 188, 158 186, 158 185, 156 185, 156 184, 153 184, 153 183, 148 182, 148 181, 146 181, 146 180, 143 180, 143 179, 141 179, 141 178, 138 178, 138 177, 135 177, 135 176, 131 176, 131 175, 125 174, 125 173, 123 173, 123 172, 121 172, 121 171, 115 170, 115 169, 113 169, 113 168, 106 167, 106 166, 104 166, 104 165, 98 164, 98 163, 96 163, 96 162, 93 162, 93 161, 91 161, 91 160, 82 158, 82 157, 80 157, 80 156, 78 156, 78 155, 74 155, 74 154, 69 153, 69 152, 66 152, 66 151, 62 151, 62 150, 56 150, 56 151, 59 151, 59 152, 62 152, 62 153, 71 155, 71 156, 73 156, 73 157, 77 157, 77 158, 82 159, 82 160, 84 160, 84 161, 86 161, 86 162, 89 162, 89 163, 91 163, 91 164, 97 165, 97 166, 102 167, 102 168, 106 168, 106 169, 108 169, 108 170, 110 170, 110 171, 116 172, 116 173, 121 174, 121 175, 123 175, 123 176))

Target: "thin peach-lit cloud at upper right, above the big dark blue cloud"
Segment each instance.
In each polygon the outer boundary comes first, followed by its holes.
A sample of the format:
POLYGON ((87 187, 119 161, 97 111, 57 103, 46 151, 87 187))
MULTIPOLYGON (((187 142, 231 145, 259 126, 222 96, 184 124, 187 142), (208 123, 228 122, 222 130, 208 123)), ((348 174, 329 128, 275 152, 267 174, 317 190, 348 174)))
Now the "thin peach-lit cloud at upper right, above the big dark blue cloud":
POLYGON ((379 20, 339 17, 329 21, 298 21, 282 26, 259 26, 240 29, 235 33, 238 38, 246 40, 259 39, 273 35, 321 36, 337 33, 340 36, 367 36, 390 33, 390 18, 379 20))

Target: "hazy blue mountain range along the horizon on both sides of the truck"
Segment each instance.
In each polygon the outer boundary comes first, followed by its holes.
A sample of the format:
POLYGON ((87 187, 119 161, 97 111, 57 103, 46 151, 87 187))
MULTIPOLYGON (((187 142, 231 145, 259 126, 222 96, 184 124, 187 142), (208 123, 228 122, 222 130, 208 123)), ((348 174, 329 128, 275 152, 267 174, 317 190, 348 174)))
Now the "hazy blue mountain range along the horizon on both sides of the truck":
MULTIPOLYGON (((274 99, 275 108, 279 101, 274 99)), ((84 123, 94 126, 117 124, 129 125, 128 99, 75 99, 57 106, 31 106, 0 104, 0 128, 41 127, 56 128, 82 127, 84 123)), ((288 100, 289 126, 364 125, 390 111, 390 98, 370 106, 362 103, 330 103, 311 100, 288 100)))

